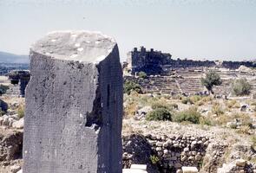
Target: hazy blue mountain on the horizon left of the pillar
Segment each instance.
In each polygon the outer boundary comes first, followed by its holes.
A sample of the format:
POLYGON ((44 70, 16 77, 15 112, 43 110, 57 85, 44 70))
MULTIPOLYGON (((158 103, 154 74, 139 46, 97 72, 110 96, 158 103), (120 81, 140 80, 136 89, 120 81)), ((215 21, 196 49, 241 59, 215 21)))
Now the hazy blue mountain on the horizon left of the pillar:
POLYGON ((10 54, 0 51, 0 62, 4 63, 29 63, 29 55, 10 54))

